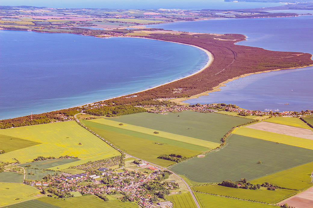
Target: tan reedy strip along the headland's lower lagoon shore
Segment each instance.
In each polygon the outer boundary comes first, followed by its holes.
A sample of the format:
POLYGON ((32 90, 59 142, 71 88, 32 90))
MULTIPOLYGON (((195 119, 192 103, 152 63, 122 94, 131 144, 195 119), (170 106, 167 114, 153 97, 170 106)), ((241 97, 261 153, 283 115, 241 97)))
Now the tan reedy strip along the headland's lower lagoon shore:
MULTIPOLYGON (((312 65, 309 65, 309 66, 306 66, 306 67, 312 67, 312 65)), ((192 95, 188 98, 176 98, 176 99, 172 99, 171 101, 172 102, 175 102, 177 104, 180 104, 180 105, 190 105, 190 103, 187 103, 187 102, 184 102, 184 101, 187 101, 189 99, 196 99, 198 97, 201 97, 201 96, 208 96, 209 93, 211 92, 218 92, 218 91, 221 91, 221 87, 225 87, 226 86, 226 83, 228 82, 232 82, 236 79, 239 79, 239 78, 242 78, 242 77, 247 77, 249 75, 252 75, 252 74, 260 74, 260 73, 266 73, 266 72, 273 72, 273 71, 280 71, 280 70, 285 70, 285 69, 300 69, 300 68, 305 68, 305 67, 293 67, 293 68, 282 68, 282 69, 274 69, 274 70, 267 70, 267 71, 262 71, 262 72, 254 72, 254 73, 247 73, 247 74, 243 74, 243 75, 240 75, 238 77, 233 77, 231 79, 228 79, 224 82, 221 82, 219 83, 217 86, 213 87, 213 90, 209 90, 209 91, 205 91, 205 92, 202 92, 202 93, 199 93, 197 95, 192 95)))

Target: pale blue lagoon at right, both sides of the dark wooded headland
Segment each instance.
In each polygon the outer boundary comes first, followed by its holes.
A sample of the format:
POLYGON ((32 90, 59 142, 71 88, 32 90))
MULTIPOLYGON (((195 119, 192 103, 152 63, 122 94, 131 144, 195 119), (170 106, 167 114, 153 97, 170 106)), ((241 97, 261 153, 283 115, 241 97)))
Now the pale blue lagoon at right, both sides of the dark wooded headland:
MULTIPOLYGON (((239 33, 239 45, 313 54, 312 15, 284 18, 212 19, 149 27, 188 32, 239 33)), ((196 103, 232 103, 250 110, 313 110, 313 67, 254 74, 228 82, 221 91, 190 99, 196 103), (285 105, 289 103, 288 105, 285 105)))

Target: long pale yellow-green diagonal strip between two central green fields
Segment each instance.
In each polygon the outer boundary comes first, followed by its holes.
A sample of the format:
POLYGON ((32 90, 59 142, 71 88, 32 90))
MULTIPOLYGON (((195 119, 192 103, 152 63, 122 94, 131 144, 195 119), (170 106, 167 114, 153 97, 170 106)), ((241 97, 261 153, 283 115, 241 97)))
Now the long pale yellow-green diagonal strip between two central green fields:
POLYGON ((108 126, 114 126, 114 127, 118 127, 118 128, 122 128, 122 129, 127 129, 127 130, 131 130, 131 131, 138 131, 144 134, 149 134, 152 136, 158 136, 158 137, 163 137, 163 138, 167 138, 167 139, 172 139, 172 140, 177 140, 177 141, 182 141, 182 142, 186 142, 186 143, 190 143, 190 144, 197 144, 199 146, 204 146, 204 147, 208 147, 211 149, 214 149, 215 147, 219 146, 220 143, 217 142, 212 142, 212 141, 205 141, 202 139, 197 139, 197 138, 192 138, 189 136, 182 136, 182 135, 178 135, 178 134, 172 134, 172 133, 168 133, 165 131, 158 131, 156 129, 150 129, 150 128, 145 128, 145 127, 141 127, 141 126, 135 126, 135 125, 131 125, 131 124, 126 124, 123 123, 123 126, 120 126, 119 124, 121 122, 118 121, 113 121, 110 119, 93 119, 90 120, 92 122, 96 122, 96 123, 100 123, 100 124, 105 124, 108 126), (154 134, 153 132, 158 131, 159 134, 154 134))

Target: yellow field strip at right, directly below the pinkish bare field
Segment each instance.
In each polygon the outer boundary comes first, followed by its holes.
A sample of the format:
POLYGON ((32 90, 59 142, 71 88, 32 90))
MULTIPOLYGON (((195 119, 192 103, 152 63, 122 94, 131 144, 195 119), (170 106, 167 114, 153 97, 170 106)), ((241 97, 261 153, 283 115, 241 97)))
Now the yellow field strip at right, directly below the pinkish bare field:
POLYGON ((233 131, 233 134, 254 137, 257 139, 263 139, 267 141, 279 142, 287 145, 298 146, 306 149, 313 150, 313 140, 304 139, 295 136, 289 136, 285 134, 278 134, 269 131, 262 131, 257 129, 240 127, 233 131))

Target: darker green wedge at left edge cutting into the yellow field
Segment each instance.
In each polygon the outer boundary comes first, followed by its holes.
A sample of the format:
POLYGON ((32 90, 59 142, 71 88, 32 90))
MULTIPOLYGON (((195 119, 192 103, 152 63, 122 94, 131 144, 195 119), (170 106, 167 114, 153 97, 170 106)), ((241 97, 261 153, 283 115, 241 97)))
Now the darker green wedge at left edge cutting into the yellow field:
POLYGON ((12 136, 0 135, 0 150, 4 150, 5 152, 10 152, 39 144, 41 143, 12 136))

